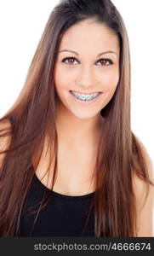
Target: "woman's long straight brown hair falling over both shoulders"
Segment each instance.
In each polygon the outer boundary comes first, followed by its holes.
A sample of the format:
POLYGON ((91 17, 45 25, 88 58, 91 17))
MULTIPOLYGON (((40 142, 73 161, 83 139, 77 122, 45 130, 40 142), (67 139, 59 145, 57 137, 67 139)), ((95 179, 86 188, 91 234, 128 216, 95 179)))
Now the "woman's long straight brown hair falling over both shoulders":
MULTIPOLYGON (((0 236, 20 234, 21 213, 36 171, 32 163, 37 168, 47 134, 48 148, 53 150, 55 177, 58 139, 54 65, 63 34, 72 25, 86 19, 106 24, 117 34, 120 44, 117 90, 100 112, 105 122, 94 166, 95 193, 89 208, 89 212, 94 208, 94 236, 137 236, 134 173, 145 181, 147 193, 152 183, 140 143, 131 131, 128 35, 122 16, 110 0, 64 0, 54 7, 31 61, 24 87, 13 107, 0 119, 6 124, 6 128, 0 129, 3 145, 8 143, 4 138, 9 137, 9 147, 1 151, 5 156, 0 166, 0 236)), ((45 193, 37 216, 47 202, 48 193, 45 193)), ((36 221, 37 218, 34 224, 36 221)))

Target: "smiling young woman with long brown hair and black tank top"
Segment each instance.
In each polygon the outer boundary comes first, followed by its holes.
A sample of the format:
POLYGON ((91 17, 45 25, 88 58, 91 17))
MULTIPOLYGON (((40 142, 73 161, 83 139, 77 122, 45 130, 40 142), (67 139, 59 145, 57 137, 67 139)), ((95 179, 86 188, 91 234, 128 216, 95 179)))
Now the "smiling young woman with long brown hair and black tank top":
POLYGON ((131 130, 130 89, 113 3, 55 6, 0 119, 0 236, 152 236, 152 163, 131 130))

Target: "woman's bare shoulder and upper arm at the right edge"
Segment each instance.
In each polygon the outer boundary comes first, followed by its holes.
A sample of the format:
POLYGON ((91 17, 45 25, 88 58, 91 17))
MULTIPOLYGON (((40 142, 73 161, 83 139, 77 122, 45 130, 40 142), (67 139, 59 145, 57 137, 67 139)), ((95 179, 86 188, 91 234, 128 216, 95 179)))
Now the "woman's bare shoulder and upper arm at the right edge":
MULTIPOLYGON (((154 183, 154 168, 150 155, 147 152, 144 144, 140 142, 140 148, 145 159, 145 164, 147 166, 148 175, 151 182, 154 183)), ((147 198, 146 195, 146 184, 139 177, 134 177, 134 194, 137 201, 137 222, 138 222, 138 236, 153 237, 153 208, 154 208, 154 186, 149 185, 149 191, 147 198)))

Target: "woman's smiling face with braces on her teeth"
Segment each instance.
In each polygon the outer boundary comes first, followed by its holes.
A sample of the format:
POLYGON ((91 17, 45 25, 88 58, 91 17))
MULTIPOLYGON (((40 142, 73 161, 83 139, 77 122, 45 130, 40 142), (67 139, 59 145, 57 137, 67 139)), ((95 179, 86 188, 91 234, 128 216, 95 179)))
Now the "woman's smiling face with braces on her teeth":
POLYGON ((79 119, 100 114, 117 88, 119 52, 117 35, 105 25, 83 20, 71 26, 60 42, 54 70, 60 108, 79 119))

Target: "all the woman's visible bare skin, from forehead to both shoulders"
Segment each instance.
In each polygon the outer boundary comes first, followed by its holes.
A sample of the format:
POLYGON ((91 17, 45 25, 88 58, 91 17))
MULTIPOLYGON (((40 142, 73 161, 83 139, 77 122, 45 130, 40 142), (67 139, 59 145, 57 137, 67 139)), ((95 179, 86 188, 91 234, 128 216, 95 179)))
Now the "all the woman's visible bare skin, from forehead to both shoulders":
MULTIPOLYGON (((75 50, 79 55, 60 53, 55 66, 54 82, 59 96, 56 120, 59 137, 59 172, 53 190, 63 195, 85 195, 93 191, 93 186, 89 187, 91 184, 90 166, 94 162, 94 160, 90 160, 90 155, 94 151, 100 123, 103 122, 100 110, 110 102, 117 88, 119 46, 117 36, 110 29, 100 23, 86 20, 71 26, 66 32, 60 44, 60 50, 62 49, 75 50), (107 67, 103 67, 101 64, 96 65, 96 61, 100 59, 96 58, 96 55, 106 50, 116 52, 117 55, 102 55, 103 58, 110 58, 114 64, 107 67), (76 57, 78 62, 75 61, 76 64, 68 66, 61 62, 66 56, 76 57), (103 91, 104 94, 95 104, 83 107, 71 100, 68 90, 103 91)), ((5 124, 1 126, 2 129, 6 127, 5 124)), ((149 177, 154 183, 153 163, 144 145, 140 141, 139 143, 149 177)), ((48 168, 47 145, 46 137, 36 174, 41 182, 50 189, 47 183, 51 184, 52 172, 50 172, 51 180, 49 178, 49 182, 47 176, 43 178, 43 172, 48 168)), ((0 148, 0 150, 4 149, 7 147, 0 148)), ((0 157, 0 166, 3 157, 4 154, 0 157)), ((135 175, 133 185, 137 201, 137 236, 153 237, 154 187, 150 185, 147 200, 144 201, 145 182, 135 175)))

